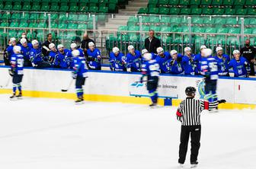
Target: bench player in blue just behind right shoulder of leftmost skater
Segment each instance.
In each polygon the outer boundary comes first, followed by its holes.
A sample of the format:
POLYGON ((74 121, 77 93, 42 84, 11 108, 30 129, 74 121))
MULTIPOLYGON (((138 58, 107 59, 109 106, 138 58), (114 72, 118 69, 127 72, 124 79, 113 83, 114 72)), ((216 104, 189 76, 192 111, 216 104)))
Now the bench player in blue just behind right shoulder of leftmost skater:
POLYGON ((30 49, 33 48, 31 43, 27 43, 26 38, 21 38, 20 40, 21 44, 19 44, 19 46, 21 46, 21 54, 24 56, 24 67, 26 66, 32 66, 31 62, 30 62, 30 49))

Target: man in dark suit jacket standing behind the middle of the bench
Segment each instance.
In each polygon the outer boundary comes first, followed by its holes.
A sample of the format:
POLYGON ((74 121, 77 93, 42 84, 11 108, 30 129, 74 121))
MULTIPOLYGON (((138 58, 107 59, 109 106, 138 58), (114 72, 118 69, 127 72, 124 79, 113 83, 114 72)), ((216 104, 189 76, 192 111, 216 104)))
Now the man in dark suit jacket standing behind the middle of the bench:
POLYGON ((149 53, 157 53, 156 49, 161 46, 161 42, 155 36, 154 30, 149 30, 149 37, 145 40, 145 48, 149 51, 149 53))

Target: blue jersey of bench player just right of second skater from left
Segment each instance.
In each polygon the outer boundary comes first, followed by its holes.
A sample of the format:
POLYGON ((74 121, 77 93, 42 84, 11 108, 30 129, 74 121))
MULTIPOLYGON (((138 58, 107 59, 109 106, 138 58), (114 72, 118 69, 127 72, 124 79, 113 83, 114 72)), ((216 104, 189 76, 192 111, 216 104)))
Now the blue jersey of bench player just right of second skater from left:
POLYGON ((98 56, 101 56, 101 51, 95 48, 93 51, 91 49, 87 50, 89 62, 88 66, 91 69, 99 69, 101 68, 101 59, 98 59, 98 56))

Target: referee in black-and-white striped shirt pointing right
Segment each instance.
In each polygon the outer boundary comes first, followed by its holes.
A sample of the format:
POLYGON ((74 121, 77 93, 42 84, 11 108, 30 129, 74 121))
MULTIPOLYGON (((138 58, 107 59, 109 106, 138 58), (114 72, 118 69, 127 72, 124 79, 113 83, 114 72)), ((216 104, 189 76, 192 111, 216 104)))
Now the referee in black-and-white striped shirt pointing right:
POLYGON ((194 99, 196 88, 186 88, 187 98, 181 101, 177 110, 177 119, 181 121, 181 143, 179 149, 178 163, 184 164, 187 154, 187 144, 189 137, 191 137, 191 155, 190 164, 191 167, 196 167, 197 155, 200 148, 200 136, 201 136, 201 122, 200 113, 203 110, 213 110, 218 107, 218 104, 226 103, 226 100, 216 100, 214 102, 208 102, 203 100, 194 99))

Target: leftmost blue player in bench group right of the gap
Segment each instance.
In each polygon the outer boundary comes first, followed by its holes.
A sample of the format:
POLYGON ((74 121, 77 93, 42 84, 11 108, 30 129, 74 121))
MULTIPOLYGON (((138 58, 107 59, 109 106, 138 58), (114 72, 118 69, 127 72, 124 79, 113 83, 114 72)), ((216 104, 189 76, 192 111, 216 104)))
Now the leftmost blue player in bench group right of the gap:
POLYGON ((125 58, 124 54, 120 53, 120 49, 118 47, 114 47, 110 53, 110 70, 126 72, 125 58))

